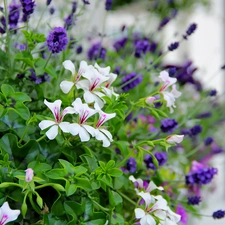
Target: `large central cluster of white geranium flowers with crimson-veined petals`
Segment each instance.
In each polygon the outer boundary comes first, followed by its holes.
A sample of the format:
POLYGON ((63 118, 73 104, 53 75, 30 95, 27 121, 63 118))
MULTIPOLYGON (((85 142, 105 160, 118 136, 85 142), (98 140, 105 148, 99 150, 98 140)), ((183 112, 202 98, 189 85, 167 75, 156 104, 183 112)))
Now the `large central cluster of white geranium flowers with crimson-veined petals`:
POLYGON ((112 142, 112 135, 102 125, 115 117, 116 113, 108 114, 101 110, 104 106, 102 97, 112 97, 112 95, 118 97, 118 94, 111 87, 117 75, 110 73, 110 67, 101 68, 98 64, 92 66, 85 61, 81 61, 78 73, 76 73, 75 66, 70 60, 66 60, 63 66, 71 71, 72 81, 62 81, 60 84, 61 90, 67 94, 74 85, 78 89, 83 89, 85 103, 82 103, 81 98, 76 98, 72 103, 73 107, 66 107, 61 113, 61 100, 56 100, 53 103, 44 100, 44 104, 52 111, 55 119, 43 120, 39 123, 39 127, 41 130, 50 127, 46 132, 46 136, 50 140, 58 135, 58 129, 60 128, 65 133, 71 133, 74 136, 79 135, 82 142, 89 141, 90 136, 92 136, 102 141, 104 147, 108 147, 112 142), (81 77, 85 79, 81 79, 81 77), (89 103, 94 104, 94 108, 90 108, 89 103), (88 125, 86 121, 96 113, 99 114, 97 123, 92 126, 88 125), (76 123, 63 122, 66 114, 78 114, 78 121, 76 123))

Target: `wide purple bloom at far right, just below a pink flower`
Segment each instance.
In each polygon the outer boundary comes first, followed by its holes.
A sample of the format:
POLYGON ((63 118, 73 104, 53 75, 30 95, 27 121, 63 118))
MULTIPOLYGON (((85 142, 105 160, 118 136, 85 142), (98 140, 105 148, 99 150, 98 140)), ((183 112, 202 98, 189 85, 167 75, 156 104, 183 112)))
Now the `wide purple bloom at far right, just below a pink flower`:
POLYGON ((190 171, 188 175, 185 176, 186 185, 205 185, 209 184, 213 179, 214 175, 217 174, 218 170, 216 168, 202 167, 194 171, 190 171))

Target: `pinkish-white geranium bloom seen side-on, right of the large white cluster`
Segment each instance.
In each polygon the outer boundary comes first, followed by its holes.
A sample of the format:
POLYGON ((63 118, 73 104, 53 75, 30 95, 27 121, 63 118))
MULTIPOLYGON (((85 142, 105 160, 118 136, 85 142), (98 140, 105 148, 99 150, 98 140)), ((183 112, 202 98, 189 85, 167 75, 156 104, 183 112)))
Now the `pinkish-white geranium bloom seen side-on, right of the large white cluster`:
POLYGON ((181 92, 177 91, 175 85, 177 78, 170 77, 167 71, 162 71, 159 78, 163 81, 163 85, 159 91, 163 94, 163 97, 167 102, 166 106, 170 108, 170 113, 173 113, 173 108, 176 108, 175 100, 181 96, 181 92), (166 90, 169 86, 172 86, 171 92, 166 90))

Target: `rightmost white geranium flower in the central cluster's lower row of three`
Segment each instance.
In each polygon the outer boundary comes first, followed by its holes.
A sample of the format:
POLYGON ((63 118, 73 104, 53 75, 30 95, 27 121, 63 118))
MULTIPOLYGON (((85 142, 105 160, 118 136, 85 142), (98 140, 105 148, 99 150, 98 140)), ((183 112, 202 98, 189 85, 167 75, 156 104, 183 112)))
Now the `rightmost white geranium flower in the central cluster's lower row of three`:
POLYGON ((106 121, 114 118, 116 116, 116 113, 108 114, 103 112, 97 103, 95 103, 95 109, 99 113, 99 119, 95 129, 95 138, 103 142, 103 147, 108 147, 110 146, 110 142, 113 141, 112 134, 108 130, 101 128, 101 126, 106 121))

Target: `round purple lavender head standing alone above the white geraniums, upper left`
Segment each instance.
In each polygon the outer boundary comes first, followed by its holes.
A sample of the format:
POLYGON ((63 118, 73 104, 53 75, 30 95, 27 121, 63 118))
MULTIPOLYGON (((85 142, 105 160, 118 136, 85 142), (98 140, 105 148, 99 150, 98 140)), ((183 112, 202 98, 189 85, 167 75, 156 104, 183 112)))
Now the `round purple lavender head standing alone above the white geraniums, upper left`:
POLYGON ((66 49, 68 44, 67 34, 64 28, 55 27, 53 31, 50 31, 47 37, 47 46, 52 53, 59 53, 66 49))

